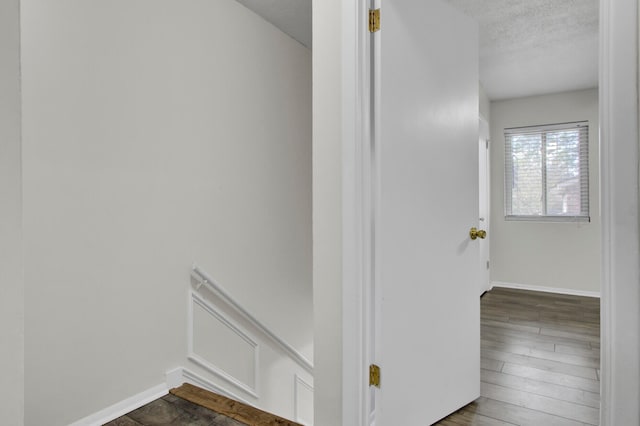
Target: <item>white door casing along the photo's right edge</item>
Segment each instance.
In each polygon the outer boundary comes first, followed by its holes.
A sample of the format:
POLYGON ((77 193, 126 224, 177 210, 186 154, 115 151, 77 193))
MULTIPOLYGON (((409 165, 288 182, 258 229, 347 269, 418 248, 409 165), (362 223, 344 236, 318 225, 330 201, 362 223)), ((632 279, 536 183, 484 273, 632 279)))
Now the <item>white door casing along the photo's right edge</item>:
POLYGON ((637 0, 600 1, 603 426, 640 424, 638 19, 637 0))

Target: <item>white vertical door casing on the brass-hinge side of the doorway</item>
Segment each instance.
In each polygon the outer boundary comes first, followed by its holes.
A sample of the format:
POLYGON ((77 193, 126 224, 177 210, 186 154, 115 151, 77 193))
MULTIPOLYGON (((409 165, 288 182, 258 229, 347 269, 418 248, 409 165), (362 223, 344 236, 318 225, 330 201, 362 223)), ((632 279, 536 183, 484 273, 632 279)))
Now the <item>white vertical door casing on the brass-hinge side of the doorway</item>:
MULTIPOLYGON (((371 362, 371 0, 342 2, 342 424, 368 425, 371 362)), ((314 407, 319 404, 314 402, 314 407)))

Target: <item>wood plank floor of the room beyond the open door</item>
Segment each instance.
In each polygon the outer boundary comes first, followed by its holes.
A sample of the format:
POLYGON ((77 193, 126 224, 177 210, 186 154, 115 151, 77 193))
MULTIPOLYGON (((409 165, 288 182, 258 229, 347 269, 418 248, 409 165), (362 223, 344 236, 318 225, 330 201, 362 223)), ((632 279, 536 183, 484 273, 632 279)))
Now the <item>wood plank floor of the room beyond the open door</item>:
POLYGON ((600 299, 494 288, 481 315, 481 397, 438 425, 599 423, 600 299))

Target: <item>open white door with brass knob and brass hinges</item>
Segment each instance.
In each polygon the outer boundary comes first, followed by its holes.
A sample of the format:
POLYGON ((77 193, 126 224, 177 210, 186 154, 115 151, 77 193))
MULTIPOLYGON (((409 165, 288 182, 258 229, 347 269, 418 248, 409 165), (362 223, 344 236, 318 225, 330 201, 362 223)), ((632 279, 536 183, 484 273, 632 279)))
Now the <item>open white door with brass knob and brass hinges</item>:
POLYGON ((376 66, 376 426, 429 425, 480 395, 477 26, 385 0, 376 66))

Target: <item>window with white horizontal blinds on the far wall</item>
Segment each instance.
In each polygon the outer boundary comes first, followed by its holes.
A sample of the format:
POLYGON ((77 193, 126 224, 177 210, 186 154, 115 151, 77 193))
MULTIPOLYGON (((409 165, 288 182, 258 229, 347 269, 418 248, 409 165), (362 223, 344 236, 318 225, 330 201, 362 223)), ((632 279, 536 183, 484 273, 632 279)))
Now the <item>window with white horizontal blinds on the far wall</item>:
POLYGON ((587 122, 505 129, 505 218, 589 221, 587 122))

